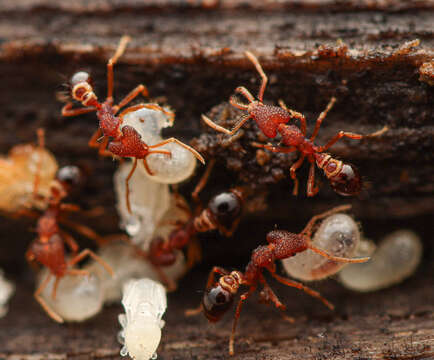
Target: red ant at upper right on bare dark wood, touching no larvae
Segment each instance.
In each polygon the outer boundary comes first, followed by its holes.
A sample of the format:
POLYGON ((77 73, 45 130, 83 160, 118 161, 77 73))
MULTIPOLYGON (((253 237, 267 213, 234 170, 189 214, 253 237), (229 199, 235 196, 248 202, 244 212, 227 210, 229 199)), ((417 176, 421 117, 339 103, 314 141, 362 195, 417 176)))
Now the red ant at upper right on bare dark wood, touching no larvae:
POLYGON ((325 176, 329 179, 330 185, 335 192, 343 196, 357 195, 362 189, 362 179, 357 168, 352 164, 344 163, 333 158, 330 154, 325 153, 325 151, 343 137, 350 139, 362 139, 366 137, 379 136, 386 132, 388 127, 385 126, 383 129, 369 135, 340 131, 334 137, 332 137, 326 145, 315 145, 313 141, 318 134, 321 123, 335 104, 336 98, 331 98, 326 109, 318 116, 311 137, 307 138, 306 119, 303 114, 292 109, 288 109, 283 101, 279 102, 280 107, 266 105, 263 103, 264 91, 268 82, 268 78, 265 75, 258 59, 249 51, 246 51, 245 55, 253 63, 253 65, 255 65, 256 70, 262 78, 258 97, 255 99, 245 87, 241 86, 236 88, 235 92, 243 95, 248 100, 249 104, 242 104, 238 102, 234 96, 230 98, 229 102, 237 109, 247 111, 248 114, 244 116, 233 127, 232 130, 225 129, 222 126, 217 125, 205 115, 202 115, 203 121, 213 129, 231 135, 232 137, 229 139, 229 141, 231 141, 235 133, 250 118, 255 120, 261 132, 268 138, 275 138, 277 133, 279 133, 282 137, 281 143, 286 145, 284 147, 272 146, 269 144, 258 144, 256 142, 252 143, 252 145, 255 147, 265 148, 272 152, 300 152, 300 158, 290 168, 290 176, 294 181, 293 195, 298 194, 298 179, 296 176, 296 171, 301 167, 305 159, 307 159, 311 164, 307 180, 307 196, 315 196, 319 191, 319 188, 315 186, 315 164, 324 171, 325 176), (291 119, 298 119, 300 121, 300 127, 296 125, 287 125, 291 119))

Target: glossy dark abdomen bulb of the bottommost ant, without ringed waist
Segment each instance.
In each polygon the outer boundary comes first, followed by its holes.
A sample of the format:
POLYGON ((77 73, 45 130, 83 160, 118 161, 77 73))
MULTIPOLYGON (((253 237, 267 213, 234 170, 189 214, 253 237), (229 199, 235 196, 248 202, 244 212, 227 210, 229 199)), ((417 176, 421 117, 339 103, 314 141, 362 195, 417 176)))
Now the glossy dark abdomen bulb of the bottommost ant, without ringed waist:
POLYGON ((221 287, 214 286, 207 290, 202 299, 203 312, 211 322, 219 321, 229 310, 234 301, 233 295, 221 287))

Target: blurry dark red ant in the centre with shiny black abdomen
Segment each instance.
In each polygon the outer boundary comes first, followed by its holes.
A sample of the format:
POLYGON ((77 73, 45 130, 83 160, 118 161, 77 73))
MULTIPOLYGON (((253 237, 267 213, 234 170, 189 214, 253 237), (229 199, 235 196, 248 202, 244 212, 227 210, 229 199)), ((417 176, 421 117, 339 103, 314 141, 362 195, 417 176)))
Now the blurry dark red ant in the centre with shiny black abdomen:
MULTIPOLYGON (((151 241, 146 257, 157 269, 174 264, 177 258, 177 251, 187 245, 189 245, 189 248, 186 268, 191 268, 201 257, 200 250, 192 242, 198 233, 218 230, 222 235, 230 237, 237 228, 244 203, 244 191, 241 188, 233 188, 229 191, 218 193, 211 198, 205 209, 200 202, 199 193, 205 187, 214 164, 214 160, 209 163, 202 178, 192 192, 192 198, 197 203, 194 212, 190 211, 182 198, 177 195, 176 206, 187 213, 189 220, 183 223, 177 222, 175 229, 172 230, 167 239, 155 237, 151 241)), ((161 274, 160 271, 158 272, 161 274)), ((174 284, 166 281, 168 279, 164 280, 169 284, 169 288, 174 287, 174 284)))

